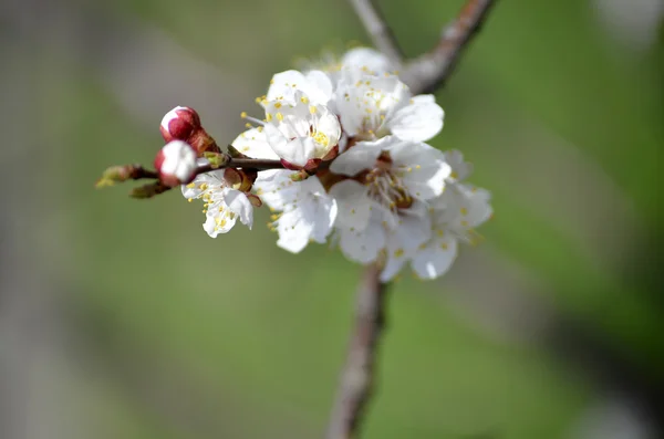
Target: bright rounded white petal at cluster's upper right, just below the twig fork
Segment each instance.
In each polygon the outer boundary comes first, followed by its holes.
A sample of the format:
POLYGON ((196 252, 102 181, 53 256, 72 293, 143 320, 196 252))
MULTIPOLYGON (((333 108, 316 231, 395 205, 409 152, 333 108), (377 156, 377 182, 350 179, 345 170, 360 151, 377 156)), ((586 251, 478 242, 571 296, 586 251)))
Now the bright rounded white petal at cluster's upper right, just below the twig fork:
POLYGON ((445 113, 436 103, 413 101, 386 122, 390 132, 404 140, 426 142, 440 133, 445 113))

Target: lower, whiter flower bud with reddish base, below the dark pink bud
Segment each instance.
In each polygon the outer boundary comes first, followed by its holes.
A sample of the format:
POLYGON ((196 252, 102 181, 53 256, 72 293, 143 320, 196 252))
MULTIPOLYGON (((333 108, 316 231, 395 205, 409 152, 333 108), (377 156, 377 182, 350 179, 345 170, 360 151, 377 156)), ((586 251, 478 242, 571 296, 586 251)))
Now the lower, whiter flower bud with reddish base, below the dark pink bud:
POLYGON ((196 151, 185 142, 173 140, 157 153, 155 168, 164 185, 185 185, 196 176, 196 151))

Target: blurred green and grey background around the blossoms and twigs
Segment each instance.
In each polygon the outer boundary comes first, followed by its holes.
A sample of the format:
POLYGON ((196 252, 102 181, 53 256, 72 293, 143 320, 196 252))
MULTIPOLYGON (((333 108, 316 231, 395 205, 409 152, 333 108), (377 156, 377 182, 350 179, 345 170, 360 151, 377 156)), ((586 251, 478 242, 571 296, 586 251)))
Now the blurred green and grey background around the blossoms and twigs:
MULTIPOLYGON (((461 3, 381 2, 409 55, 461 3)), ((664 437, 663 11, 498 2, 433 142, 496 216, 394 285, 364 438, 664 437)), ((273 73, 369 42, 350 6, 4 0, 0 32, 0 438, 322 437, 361 268, 93 182, 152 163, 175 105, 232 140, 273 73)))

